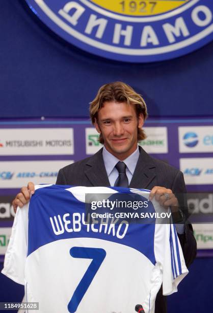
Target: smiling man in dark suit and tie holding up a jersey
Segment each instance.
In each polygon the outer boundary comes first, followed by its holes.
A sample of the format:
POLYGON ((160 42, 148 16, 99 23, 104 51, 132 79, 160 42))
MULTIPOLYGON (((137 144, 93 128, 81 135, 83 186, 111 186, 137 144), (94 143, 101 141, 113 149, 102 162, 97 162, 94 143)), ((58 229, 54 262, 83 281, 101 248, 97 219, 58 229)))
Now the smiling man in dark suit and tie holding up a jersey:
MULTIPOLYGON (((138 141, 145 139, 142 126, 147 117, 143 98, 122 82, 103 85, 90 103, 90 117, 104 144, 93 157, 68 165, 59 171, 57 184, 82 186, 121 186, 151 190, 150 198, 162 206, 178 208, 175 194, 186 193, 183 174, 172 166, 151 158, 138 141)), ((22 207, 34 193, 34 184, 23 187, 13 200, 22 207)), ((181 206, 184 205, 181 204, 181 206)), ((180 213, 177 209, 176 213, 180 213)), ((196 256, 191 225, 176 225, 185 263, 196 256)), ((162 288, 155 301, 155 313, 167 311, 162 288)))

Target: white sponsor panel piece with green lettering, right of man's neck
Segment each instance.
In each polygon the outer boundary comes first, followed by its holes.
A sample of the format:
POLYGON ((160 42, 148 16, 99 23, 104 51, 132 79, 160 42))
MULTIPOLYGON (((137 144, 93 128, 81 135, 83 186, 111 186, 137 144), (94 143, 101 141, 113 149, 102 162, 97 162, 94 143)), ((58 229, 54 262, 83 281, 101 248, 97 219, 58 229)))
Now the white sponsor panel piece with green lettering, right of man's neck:
POLYGON ((147 153, 168 153, 167 127, 143 127, 147 138, 139 142, 147 153))

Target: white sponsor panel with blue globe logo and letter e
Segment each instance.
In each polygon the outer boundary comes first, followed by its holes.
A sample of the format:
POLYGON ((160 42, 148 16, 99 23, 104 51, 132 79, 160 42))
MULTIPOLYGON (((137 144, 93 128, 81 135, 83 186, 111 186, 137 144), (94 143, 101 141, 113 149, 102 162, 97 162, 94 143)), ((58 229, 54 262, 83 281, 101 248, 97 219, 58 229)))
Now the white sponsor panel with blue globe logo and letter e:
POLYGON ((213 152, 213 126, 178 127, 179 152, 213 152))

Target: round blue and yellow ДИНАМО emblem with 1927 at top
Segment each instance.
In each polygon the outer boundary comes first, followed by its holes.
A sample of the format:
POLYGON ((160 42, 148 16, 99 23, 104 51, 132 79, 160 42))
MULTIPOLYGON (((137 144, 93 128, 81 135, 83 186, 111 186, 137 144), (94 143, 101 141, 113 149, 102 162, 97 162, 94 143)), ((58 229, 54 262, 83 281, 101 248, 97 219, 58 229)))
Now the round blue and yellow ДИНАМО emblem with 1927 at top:
POLYGON ((57 35, 105 58, 153 62, 213 39, 212 0, 26 0, 57 35))

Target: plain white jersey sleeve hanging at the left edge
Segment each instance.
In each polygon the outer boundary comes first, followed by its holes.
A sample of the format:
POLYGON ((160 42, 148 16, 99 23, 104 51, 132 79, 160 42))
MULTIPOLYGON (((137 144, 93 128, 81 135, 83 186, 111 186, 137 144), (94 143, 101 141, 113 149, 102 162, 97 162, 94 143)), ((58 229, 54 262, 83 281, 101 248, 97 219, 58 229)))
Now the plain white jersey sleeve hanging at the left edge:
POLYGON ((17 208, 2 270, 4 275, 22 285, 28 253, 28 209, 29 204, 21 209, 17 208))

